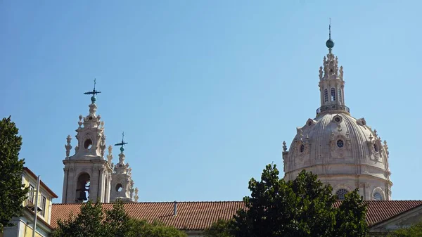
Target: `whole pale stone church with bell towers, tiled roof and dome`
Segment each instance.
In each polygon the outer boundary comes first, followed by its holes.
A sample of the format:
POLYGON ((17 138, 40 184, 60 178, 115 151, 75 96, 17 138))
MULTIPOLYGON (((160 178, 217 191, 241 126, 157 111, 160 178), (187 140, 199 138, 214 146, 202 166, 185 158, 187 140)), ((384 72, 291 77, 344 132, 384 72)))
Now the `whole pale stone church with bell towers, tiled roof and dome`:
MULTIPOLYGON (((368 204, 366 222, 371 236, 422 221, 422 200, 392 200, 387 142, 363 117, 352 117, 345 104, 343 67, 338 66, 338 58, 332 53, 331 33, 326 46, 328 54, 319 68, 321 104, 316 116, 304 120, 296 129, 289 148, 283 142, 284 179, 295 179, 306 169, 317 174, 323 183, 331 184, 339 200, 345 193, 359 188, 368 204)), ((67 137, 63 198, 61 204, 51 207, 52 228, 71 212, 77 214, 80 203, 88 199, 106 203, 106 208, 115 200, 122 200, 130 217, 158 220, 196 237, 213 222, 230 219, 236 210, 245 207, 243 201, 138 203, 132 168, 125 162, 124 136, 115 144, 120 146, 116 164, 113 147, 106 146, 104 122, 96 114, 98 93, 95 82, 94 90, 85 93, 92 95, 91 103, 89 113, 79 115, 74 150, 72 136, 67 137)))

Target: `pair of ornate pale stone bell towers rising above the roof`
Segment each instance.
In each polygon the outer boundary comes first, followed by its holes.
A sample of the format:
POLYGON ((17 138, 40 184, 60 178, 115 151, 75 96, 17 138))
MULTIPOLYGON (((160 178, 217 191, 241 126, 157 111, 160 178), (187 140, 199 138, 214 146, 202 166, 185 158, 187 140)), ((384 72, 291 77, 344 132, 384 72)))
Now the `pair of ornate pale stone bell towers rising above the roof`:
POLYGON ((93 91, 85 94, 92 95, 89 104, 89 114, 79 115, 76 129, 77 146, 75 154, 72 150, 72 136, 68 135, 66 157, 63 160, 63 198, 62 203, 82 203, 88 199, 101 203, 110 203, 115 200, 133 202, 138 200, 138 188, 134 188, 132 168, 124 162, 124 134, 122 142, 115 144, 120 147, 119 162, 113 163, 113 147, 108 146, 106 155, 106 134, 101 115, 96 115, 96 91, 94 81, 93 91))

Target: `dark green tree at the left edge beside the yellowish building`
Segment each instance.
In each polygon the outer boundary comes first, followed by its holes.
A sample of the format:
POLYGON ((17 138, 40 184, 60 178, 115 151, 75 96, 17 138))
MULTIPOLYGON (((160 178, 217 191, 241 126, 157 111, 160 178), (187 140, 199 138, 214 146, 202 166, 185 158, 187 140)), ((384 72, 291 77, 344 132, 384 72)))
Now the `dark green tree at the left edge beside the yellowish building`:
POLYGON ((22 137, 11 117, 0 121, 0 233, 12 226, 11 219, 20 217, 27 188, 22 184, 25 161, 19 159, 22 137))

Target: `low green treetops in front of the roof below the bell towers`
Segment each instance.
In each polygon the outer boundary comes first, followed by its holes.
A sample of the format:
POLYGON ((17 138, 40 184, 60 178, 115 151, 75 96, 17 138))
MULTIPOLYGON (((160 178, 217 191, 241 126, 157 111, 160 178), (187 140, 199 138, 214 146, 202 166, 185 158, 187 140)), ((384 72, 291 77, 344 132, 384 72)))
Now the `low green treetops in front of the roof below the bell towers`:
POLYGON ((82 204, 81 212, 70 214, 67 220, 59 220, 54 237, 186 237, 186 233, 159 222, 152 224, 131 219, 124 211, 123 203, 113 204, 111 210, 103 210, 101 203, 90 200, 82 204))

